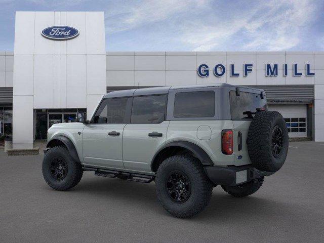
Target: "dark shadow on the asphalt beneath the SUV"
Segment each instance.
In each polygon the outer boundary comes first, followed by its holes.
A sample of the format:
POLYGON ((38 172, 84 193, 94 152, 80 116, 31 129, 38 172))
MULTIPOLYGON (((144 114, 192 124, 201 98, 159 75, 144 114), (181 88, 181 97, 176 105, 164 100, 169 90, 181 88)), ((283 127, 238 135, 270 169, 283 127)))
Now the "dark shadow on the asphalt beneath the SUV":
MULTIPOLYGON (((159 205, 155 192, 154 182, 149 184, 134 183, 116 178, 87 177, 79 185, 69 191, 69 193, 89 195, 104 200, 113 200, 125 206, 145 209, 154 212, 159 217, 171 217, 159 205)), ((213 190, 213 195, 209 206, 205 211, 193 217, 194 221, 226 221, 231 217, 239 215, 244 223, 246 219, 258 217, 271 217, 278 214, 278 209, 285 214, 293 214, 289 203, 282 203, 269 197, 269 195, 255 193, 254 195, 235 198, 225 193, 220 186, 213 190)), ((181 219, 177 219, 181 220, 181 219)), ((236 219, 236 222, 239 220, 236 219)))

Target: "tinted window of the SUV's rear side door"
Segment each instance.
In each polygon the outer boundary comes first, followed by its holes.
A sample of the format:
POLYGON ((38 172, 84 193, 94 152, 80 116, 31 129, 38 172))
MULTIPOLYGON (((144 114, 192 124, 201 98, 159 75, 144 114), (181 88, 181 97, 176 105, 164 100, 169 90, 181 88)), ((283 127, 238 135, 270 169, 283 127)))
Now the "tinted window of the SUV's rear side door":
POLYGON ((158 124, 165 120, 166 95, 138 96, 133 98, 131 123, 158 124))

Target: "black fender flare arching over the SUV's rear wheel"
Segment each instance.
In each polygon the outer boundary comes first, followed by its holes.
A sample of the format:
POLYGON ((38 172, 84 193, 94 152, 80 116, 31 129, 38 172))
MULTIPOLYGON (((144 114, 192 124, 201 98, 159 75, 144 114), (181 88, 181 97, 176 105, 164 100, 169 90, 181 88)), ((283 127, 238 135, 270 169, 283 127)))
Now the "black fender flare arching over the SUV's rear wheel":
POLYGON ((201 164, 204 166, 213 166, 214 163, 209 155, 205 152, 204 149, 200 148, 198 145, 188 142, 188 141, 175 141, 171 143, 167 143, 165 146, 161 147, 153 156, 151 160, 151 170, 153 171, 153 162, 156 156, 159 154, 160 151, 169 148, 169 147, 182 147, 191 151, 195 157, 197 157, 201 164))

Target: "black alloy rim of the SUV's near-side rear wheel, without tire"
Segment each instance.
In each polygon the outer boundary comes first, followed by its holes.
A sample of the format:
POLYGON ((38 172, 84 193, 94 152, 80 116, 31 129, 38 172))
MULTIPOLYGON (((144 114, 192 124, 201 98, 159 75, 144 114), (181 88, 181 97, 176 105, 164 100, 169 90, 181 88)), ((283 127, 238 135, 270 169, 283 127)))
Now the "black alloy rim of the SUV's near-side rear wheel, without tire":
POLYGON ((191 183, 184 173, 172 171, 167 181, 167 191, 175 203, 182 204, 190 197, 191 183))

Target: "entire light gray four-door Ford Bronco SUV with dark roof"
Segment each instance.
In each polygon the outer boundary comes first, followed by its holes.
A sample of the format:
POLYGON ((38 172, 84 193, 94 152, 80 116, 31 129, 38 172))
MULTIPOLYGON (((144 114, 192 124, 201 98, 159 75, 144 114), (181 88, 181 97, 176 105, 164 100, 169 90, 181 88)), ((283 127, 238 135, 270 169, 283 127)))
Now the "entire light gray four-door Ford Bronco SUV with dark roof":
POLYGON ((217 185, 253 194, 288 151, 285 120, 268 111, 264 91, 228 84, 115 91, 76 120, 48 130, 42 170, 52 188, 74 187, 84 171, 154 181, 179 218, 203 211, 217 185))

